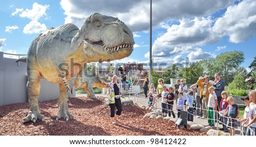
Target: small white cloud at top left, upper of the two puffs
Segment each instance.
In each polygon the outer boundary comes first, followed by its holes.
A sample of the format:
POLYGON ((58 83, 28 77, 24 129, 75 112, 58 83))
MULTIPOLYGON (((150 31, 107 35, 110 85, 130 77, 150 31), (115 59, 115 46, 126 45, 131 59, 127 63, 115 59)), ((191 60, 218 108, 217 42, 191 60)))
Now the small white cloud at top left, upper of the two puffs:
POLYGON ((29 18, 31 20, 38 20, 42 16, 47 15, 46 10, 49 8, 49 5, 39 5, 38 3, 33 3, 33 7, 31 10, 26 9, 22 11, 22 14, 19 16, 22 18, 29 18))

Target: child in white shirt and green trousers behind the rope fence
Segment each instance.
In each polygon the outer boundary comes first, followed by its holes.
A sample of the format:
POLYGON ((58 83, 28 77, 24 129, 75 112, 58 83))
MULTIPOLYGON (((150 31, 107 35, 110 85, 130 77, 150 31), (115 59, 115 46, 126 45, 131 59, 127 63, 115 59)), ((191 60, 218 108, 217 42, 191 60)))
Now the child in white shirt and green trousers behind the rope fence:
POLYGON ((214 93, 214 87, 210 86, 208 91, 209 91, 209 100, 208 100, 208 104, 207 104, 207 116, 208 116, 208 125, 210 127, 214 127, 214 123, 215 123, 215 113, 214 110, 217 111, 217 95, 214 93))

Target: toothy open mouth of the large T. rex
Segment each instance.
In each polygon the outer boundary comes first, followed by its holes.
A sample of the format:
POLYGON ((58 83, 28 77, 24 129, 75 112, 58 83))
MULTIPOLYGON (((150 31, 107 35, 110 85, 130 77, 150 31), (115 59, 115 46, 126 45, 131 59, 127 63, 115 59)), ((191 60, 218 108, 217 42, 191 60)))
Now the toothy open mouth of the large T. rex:
POLYGON ((113 47, 107 47, 102 40, 100 41, 85 40, 85 41, 90 44, 100 45, 108 52, 118 51, 119 49, 125 49, 125 48, 133 48, 133 44, 130 44, 130 43, 122 43, 122 44, 114 45, 113 47))

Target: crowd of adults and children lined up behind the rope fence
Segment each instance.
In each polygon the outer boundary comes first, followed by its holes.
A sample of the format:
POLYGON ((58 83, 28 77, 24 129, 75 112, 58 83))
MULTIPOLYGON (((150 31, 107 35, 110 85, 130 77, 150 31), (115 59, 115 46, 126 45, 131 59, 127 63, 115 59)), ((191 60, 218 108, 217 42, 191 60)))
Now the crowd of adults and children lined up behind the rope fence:
POLYGON ((156 89, 151 83, 148 93, 148 106, 154 106, 156 102, 161 101, 163 117, 176 117, 173 109, 176 104, 177 117, 180 117, 181 111, 188 111, 188 121, 193 121, 196 116, 201 119, 208 119, 208 125, 214 127, 217 120, 222 124, 221 131, 234 135, 235 129, 238 127, 238 121, 242 121, 243 134, 255 135, 256 132, 256 90, 241 98, 245 104, 245 113, 242 117, 234 98, 228 96, 224 91, 225 82, 221 79, 219 73, 214 74, 214 81, 210 81, 209 77, 199 77, 198 81, 191 85, 191 91, 185 79, 177 79, 173 87, 164 85, 162 78, 158 79, 156 89), (195 106, 194 104, 195 93, 195 106), (174 101, 176 101, 174 103, 174 101), (195 110, 195 112, 194 112, 195 110), (248 127, 249 126, 249 127, 248 127), (229 128, 229 130, 228 130, 229 128))

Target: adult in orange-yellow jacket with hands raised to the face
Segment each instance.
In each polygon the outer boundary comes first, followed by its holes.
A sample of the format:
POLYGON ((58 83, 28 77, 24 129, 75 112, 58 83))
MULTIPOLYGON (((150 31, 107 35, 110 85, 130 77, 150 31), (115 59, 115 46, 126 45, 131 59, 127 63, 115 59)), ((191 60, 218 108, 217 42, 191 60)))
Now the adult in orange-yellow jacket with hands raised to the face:
POLYGON ((208 75, 205 75, 203 78, 199 79, 196 84, 200 87, 200 97, 202 99, 202 108, 204 118, 207 118, 207 104, 209 100, 209 87, 212 86, 212 83, 209 82, 208 75))

